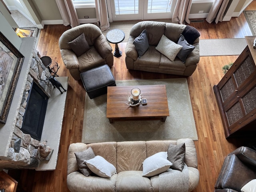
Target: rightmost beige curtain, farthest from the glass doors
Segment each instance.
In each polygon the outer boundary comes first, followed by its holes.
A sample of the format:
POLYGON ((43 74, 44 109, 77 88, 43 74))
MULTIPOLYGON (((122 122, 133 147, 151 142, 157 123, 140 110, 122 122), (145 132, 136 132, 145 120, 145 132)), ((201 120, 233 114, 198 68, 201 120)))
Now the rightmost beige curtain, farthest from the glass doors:
POLYGON ((212 4, 210 12, 206 17, 208 23, 212 23, 215 20, 217 24, 219 21, 222 22, 224 12, 228 6, 229 0, 215 0, 212 4))

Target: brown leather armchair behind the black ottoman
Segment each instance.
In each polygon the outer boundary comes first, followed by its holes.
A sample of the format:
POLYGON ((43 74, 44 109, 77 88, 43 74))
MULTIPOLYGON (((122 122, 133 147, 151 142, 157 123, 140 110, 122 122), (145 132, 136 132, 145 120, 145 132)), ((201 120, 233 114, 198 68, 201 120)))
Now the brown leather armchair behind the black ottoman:
POLYGON ((82 24, 66 30, 59 39, 60 53, 66 68, 75 80, 80 79, 80 73, 89 69, 108 64, 113 66, 112 47, 94 24, 82 24), (84 34, 85 40, 78 37, 84 34), (72 42, 72 44, 70 44, 72 42), (81 54, 81 44, 87 49, 81 54), (77 52, 80 52, 79 54, 77 52))

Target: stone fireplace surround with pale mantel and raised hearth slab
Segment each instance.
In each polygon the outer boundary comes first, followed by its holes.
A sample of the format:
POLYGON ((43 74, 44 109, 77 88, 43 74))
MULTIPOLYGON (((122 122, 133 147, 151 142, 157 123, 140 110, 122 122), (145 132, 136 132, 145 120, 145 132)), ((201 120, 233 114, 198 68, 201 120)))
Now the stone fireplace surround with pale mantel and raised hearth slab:
MULTIPOLYGON (((22 38, 20 47, 20 52, 24 55, 22 70, 6 124, 0 124, 0 169, 54 170, 56 167, 66 92, 60 94, 49 81, 38 80, 38 75, 45 79, 50 76, 50 72, 37 56, 35 46, 36 38, 22 38), (31 138, 29 134, 24 134, 20 130, 32 81, 49 97, 41 141, 31 138), (53 115, 57 116, 54 118, 56 121, 54 123, 50 122, 53 115), (52 138, 53 133, 57 135, 52 138), (48 141, 47 146, 49 145, 53 151, 52 158, 47 162, 40 156, 38 148, 43 140, 48 141)), ((67 89, 67 77, 59 77, 58 81, 67 89)))

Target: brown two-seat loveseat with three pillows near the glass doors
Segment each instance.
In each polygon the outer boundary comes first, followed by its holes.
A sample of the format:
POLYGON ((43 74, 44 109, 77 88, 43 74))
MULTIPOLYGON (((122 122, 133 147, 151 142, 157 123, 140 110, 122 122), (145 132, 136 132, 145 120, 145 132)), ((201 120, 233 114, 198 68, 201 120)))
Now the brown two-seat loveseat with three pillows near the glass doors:
POLYGON ((185 63, 183 63, 178 57, 176 57, 172 62, 170 59, 156 50, 156 46, 158 45, 163 34, 168 39, 177 43, 180 34, 182 33, 184 36, 186 35, 186 40, 188 40, 187 38, 194 37, 195 33, 199 34, 195 28, 182 24, 156 21, 138 22, 130 30, 130 36, 125 49, 126 67, 132 70, 142 70, 182 76, 192 75, 192 73, 196 70, 197 63, 200 60, 199 37, 196 38, 194 42, 190 42, 190 44, 195 46, 195 48, 187 56, 185 63), (133 41, 144 29, 147 31, 148 43, 150 47, 141 56, 141 58, 139 58, 133 41), (189 34, 189 32, 192 32, 193 34, 189 34))

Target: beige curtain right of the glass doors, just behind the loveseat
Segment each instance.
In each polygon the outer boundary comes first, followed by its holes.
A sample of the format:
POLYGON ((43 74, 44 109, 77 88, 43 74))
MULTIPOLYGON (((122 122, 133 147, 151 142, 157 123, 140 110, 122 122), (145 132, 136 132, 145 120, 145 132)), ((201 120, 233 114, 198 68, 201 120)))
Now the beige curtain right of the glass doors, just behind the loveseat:
POLYGON ((174 12, 172 15, 172 22, 179 22, 180 24, 190 23, 188 19, 190 9, 191 9, 192 0, 177 0, 174 12))

